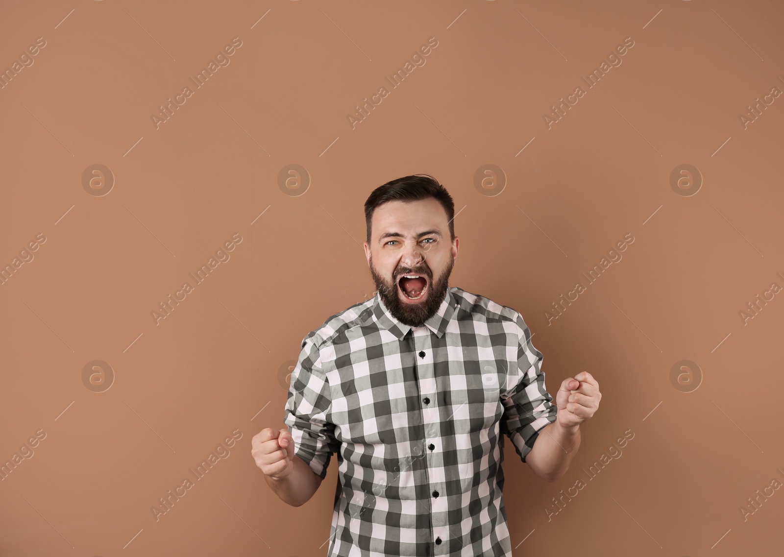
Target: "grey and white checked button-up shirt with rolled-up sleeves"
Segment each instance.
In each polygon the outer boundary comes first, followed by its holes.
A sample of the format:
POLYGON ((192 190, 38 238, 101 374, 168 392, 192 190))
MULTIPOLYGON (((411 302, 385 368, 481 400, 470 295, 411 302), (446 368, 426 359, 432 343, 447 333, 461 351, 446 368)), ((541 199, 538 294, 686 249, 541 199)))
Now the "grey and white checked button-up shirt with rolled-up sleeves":
POLYGON ((555 421, 520 313, 448 288, 423 327, 378 293, 302 342, 285 424, 322 479, 338 455, 328 557, 511 557, 503 433, 522 461, 555 421))

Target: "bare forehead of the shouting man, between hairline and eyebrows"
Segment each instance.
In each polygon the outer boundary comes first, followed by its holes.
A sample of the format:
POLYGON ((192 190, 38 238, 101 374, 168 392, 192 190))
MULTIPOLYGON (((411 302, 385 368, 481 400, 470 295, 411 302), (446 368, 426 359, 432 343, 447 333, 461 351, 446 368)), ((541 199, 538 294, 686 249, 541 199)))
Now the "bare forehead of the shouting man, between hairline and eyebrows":
POLYGON ((447 228, 446 211, 433 197, 419 201, 387 201, 373 212, 373 237, 386 232, 414 235, 430 229, 446 233, 447 228))

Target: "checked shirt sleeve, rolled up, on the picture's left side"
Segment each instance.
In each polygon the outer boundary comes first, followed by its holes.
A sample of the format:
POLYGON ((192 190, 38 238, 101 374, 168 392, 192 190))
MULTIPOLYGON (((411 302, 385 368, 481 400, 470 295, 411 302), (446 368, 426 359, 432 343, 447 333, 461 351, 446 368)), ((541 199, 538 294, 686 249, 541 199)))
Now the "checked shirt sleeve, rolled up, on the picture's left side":
POLYGON ((303 339, 299 360, 291 374, 283 421, 294 439, 294 454, 324 479, 332 453, 339 445, 335 425, 328 421, 332 396, 327 375, 319 367, 318 340, 316 335, 303 339))

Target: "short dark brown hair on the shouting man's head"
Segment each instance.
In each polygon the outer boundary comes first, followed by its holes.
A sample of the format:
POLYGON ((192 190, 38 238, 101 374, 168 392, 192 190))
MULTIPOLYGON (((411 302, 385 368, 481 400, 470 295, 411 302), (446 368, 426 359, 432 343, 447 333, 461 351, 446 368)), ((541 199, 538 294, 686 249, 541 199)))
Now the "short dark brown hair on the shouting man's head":
POLYGON ((370 230, 372 228, 373 212, 387 201, 419 201, 433 197, 441 203, 449 221, 449 236, 455 240, 455 202, 444 186, 429 174, 413 174, 391 180, 383 186, 372 191, 368 201, 365 201, 365 225, 368 227, 368 244, 370 244, 370 230))

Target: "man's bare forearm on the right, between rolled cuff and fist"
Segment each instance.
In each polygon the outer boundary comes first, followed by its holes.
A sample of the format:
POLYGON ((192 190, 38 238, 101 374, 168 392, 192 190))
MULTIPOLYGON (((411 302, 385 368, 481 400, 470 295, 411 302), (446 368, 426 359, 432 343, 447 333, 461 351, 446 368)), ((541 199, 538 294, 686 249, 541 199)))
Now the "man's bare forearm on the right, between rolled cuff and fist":
POLYGON ((554 482, 568 470, 580 440, 579 426, 564 429, 556 420, 539 432, 534 447, 525 456, 525 462, 536 476, 554 482))

